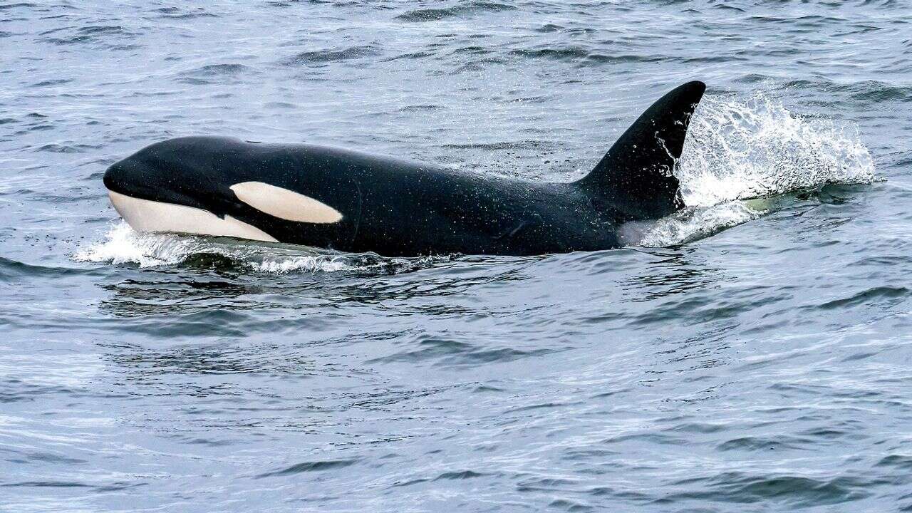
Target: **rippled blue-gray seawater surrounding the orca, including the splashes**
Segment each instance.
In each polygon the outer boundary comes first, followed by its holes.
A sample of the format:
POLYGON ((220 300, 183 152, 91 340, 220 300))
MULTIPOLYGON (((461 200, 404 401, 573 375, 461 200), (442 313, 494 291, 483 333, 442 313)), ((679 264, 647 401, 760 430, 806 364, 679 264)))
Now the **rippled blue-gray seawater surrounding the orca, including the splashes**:
POLYGON ((912 510, 910 15, 4 1, 0 510, 912 510), (689 210, 621 250, 140 235, 101 183, 191 134, 571 180, 689 79, 689 210))

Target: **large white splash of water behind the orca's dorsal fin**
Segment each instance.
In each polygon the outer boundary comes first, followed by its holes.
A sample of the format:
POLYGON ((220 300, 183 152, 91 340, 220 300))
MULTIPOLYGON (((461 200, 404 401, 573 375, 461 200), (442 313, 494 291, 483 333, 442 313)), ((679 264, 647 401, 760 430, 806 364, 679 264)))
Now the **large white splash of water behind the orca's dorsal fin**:
POLYGON ((769 212, 743 202, 827 183, 871 183, 874 162, 857 129, 793 114, 762 93, 705 97, 690 121, 675 175, 688 210, 650 225, 639 246, 710 236, 769 212))

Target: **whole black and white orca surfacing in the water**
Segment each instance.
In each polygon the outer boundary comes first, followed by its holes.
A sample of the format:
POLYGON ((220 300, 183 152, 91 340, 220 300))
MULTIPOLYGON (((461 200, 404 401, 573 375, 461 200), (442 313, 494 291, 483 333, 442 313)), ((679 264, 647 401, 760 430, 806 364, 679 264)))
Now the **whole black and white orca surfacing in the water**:
POLYGON ((530 256, 625 246, 621 228, 684 204, 673 173, 706 86, 658 99, 575 182, 452 170, 311 144, 161 141, 111 165, 140 232, 233 236, 386 257, 530 256))

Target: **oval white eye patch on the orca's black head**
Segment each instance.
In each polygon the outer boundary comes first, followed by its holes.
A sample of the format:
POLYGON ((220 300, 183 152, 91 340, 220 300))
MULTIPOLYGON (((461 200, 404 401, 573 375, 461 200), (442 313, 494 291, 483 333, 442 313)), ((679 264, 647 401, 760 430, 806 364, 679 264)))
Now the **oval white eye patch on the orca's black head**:
POLYGON ((269 183, 235 183, 231 190, 245 204, 287 221, 328 224, 342 219, 342 214, 328 204, 269 183))

